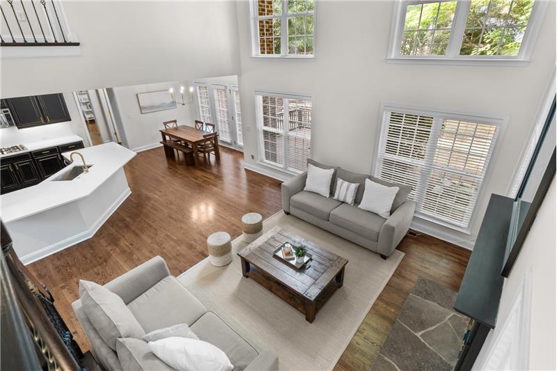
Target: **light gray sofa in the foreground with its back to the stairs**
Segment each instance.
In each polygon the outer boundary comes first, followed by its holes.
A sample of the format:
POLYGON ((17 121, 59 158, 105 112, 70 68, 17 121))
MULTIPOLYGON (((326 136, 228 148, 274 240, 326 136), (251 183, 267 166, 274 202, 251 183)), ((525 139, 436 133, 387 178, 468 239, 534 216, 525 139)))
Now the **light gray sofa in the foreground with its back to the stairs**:
MULTIPOLYGON (((218 315, 208 311, 177 278, 171 276, 166 262, 160 256, 148 260, 104 287, 123 299, 146 333, 185 323, 201 340, 225 352, 234 370, 277 368, 274 353, 268 350, 259 352, 218 315)), ((143 370, 173 370, 152 354, 143 340, 133 341, 132 354, 123 352, 127 354, 123 358, 135 359, 119 359, 119 350, 117 354, 102 340, 82 308, 81 300, 74 301, 72 308, 93 345, 93 356, 105 370, 130 370, 130 365, 137 368, 135 362, 139 362, 143 370)))

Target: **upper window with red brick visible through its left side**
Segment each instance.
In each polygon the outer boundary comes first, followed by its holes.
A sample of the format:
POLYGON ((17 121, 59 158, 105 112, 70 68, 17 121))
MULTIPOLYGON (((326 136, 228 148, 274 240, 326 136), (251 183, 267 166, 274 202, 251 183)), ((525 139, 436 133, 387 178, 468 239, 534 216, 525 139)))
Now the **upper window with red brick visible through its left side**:
POLYGON ((313 56, 314 0, 253 0, 254 56, 313 56))

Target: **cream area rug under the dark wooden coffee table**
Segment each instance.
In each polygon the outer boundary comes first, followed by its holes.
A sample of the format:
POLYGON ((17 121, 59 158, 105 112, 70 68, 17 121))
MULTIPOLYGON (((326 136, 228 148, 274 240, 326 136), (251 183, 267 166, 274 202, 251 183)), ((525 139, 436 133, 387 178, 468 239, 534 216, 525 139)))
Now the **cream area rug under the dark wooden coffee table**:
POLYGON ((383 260, 377 253, 283 212, 264 221, 263 232, 274 226, 348 259, 343 287, 317 312, 313 324, 265 287, 242 276, 236 255, 246 246, 242 236, 233 241, 230 265, 217 268, 205 259, 179 279, 253 345, 273 349, 281 370, 331 370, 404 253, 397 250, 383 260))

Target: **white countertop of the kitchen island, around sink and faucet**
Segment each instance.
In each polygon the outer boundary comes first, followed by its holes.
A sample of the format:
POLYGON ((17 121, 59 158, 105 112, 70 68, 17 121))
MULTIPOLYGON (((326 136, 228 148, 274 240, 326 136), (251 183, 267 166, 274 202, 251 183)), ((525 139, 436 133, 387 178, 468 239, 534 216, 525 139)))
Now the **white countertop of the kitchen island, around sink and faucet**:
MULTIPOLYGON (((74 180, 55 181, 54 178, 72 169, 72 165, 66 166, 33 187, 1 195, 0 217, 4 223, 23 219, 90 195, 136 155, 136 152, 113 142, 73 152, 81 153, 86 163, 93 165, 88 173, 82 173, 74 180)), ((70 152, 62 155, 69 159, 70 152)), ((81 166, 81 159, 74 156, 73 165, 81 166)))

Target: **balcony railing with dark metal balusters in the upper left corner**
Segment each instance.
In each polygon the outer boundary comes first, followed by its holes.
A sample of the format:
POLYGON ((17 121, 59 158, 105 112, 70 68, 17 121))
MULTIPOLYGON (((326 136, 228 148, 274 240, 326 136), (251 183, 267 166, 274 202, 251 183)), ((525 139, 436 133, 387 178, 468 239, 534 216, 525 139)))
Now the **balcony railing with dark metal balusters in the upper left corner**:
POLYGON ((6 0, 0 4, 2 47, 78 46, 61 3, 54 0, 6 0))

